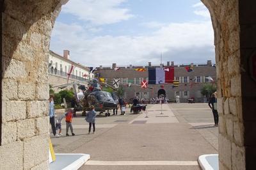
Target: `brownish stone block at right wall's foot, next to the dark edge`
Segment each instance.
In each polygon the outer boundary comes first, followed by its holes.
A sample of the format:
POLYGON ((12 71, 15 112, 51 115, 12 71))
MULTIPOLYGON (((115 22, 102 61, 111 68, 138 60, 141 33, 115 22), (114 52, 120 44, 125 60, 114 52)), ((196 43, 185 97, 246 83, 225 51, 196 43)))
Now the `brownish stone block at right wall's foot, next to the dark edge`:
POLYGON ((245 168, 245 149, 232 143, 232 169, 241 170, 245 168))

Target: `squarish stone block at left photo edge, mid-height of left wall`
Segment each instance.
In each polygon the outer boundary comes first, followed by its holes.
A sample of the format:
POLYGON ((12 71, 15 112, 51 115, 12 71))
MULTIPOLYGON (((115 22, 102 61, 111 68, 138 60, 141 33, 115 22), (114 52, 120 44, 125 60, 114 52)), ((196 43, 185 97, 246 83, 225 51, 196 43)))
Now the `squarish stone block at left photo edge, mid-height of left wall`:
POLYGON ((12 79, 2 79, 2 100, 17 100, 18 83, 12 79))

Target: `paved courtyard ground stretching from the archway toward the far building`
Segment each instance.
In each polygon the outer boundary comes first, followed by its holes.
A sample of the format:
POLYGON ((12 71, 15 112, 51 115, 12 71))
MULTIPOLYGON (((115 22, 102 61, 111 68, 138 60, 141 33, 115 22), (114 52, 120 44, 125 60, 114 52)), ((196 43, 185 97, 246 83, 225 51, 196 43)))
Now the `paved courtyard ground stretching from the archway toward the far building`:
POLYGON ((81 169, 200 169, 198 156, 218 153, 211 109, 207 104, 162 107, 163 114, 160 104, 148 105, 148 118, 145 113, 97 116, 96 134, 87 134, 88 123, 78 114, 76 136, 52 137, 54 151, 90 154, 81 169))

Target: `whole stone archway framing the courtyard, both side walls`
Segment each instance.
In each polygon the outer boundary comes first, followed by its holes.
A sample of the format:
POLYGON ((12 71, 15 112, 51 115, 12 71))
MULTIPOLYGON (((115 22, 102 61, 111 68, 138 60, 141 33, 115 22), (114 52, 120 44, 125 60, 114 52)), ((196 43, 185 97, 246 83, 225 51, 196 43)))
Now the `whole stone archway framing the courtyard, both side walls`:
MULTIPOLYGON (((61 5, 67 1, 3 1, 0 116, 3 169, 48 167, 49 42, 61 5)), ((253 114, 256 91, 251 90, 256 84, 249 75, 248 58, 256 49, 253 8, 256 3, 202 2, 211 13, 214 28, 220 169, 250 169, 256 155, 253 114)))

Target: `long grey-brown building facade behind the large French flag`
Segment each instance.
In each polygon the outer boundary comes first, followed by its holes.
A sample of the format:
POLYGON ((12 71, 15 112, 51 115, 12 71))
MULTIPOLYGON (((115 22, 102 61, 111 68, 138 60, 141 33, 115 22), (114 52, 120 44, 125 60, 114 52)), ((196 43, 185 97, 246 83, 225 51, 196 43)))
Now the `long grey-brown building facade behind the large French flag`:
MULTIPOLYGON (((201 89, 207 83, 216 81, 216 67, 211 61, 207 61, 205 65, 191 65, 192 72, 188 72, 185 67, 188 65, 174 65, 174 62, 167 66, 174 67, 174 80, 179 81, 179 86, 174 87, 173 84, 148 84, 149 88, 141 88, 141 81, 148 81, 148 68, 160 68, 163 65, 152 66, 148 63, 147 66, 128 66, 118 67, 114 63, 112 67, 104 68, 102 66, 95 72, 98 77, 104 78, 108 84, 113 84, 113 79, 120 79, 120 86, 124 87, 124 98, 129 100, 133 97, 139 97, 149 100, 156 98, 159 93, 164 93, 169 100, 179 98, 180 102, 188 102, 188 98, 195 98, 195 102, 206 102, 207 98, 201 94, 201 89), (120 68, 115 71, 114 68, 120 68), (145 68, 145 72, 138 72, 134 69, 145 68), (213 81, 209 79, 211 77, 213 81), (131 86, 129 86, 131 83, 131 86)), ((211 95, 211 94, 209 94, 211 95)))

